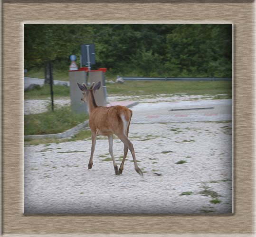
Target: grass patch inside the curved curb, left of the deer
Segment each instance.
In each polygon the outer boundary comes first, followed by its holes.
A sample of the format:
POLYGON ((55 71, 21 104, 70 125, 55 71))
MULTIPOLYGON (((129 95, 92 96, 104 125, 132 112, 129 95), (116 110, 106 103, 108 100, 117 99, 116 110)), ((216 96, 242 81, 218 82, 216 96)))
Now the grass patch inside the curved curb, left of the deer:
POLYGON ((70 106, 55 111, 24 115, 24 135, 61 133, 88 119, 86 114, 72 114, 70 106))

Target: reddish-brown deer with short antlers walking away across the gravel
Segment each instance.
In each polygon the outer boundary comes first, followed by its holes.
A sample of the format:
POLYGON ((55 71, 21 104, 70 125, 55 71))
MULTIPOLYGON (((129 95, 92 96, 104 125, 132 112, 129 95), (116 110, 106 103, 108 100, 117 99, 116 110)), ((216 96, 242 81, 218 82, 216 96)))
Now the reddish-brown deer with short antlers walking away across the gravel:
POLYGON ((93 166, 93 155, 95 151, 96 137, 103 135, 108 137, 109 154, 113 160, 114 172, 116 175, 123 173, 123 165, 126 159, 128 149, 133 156, 134 168, 137 173, 143 176, 143 173, 137 165, 133 143, 128 139, 129 127, 133 115, 133 111, 121 105, 110 107, 97 106, 95 102, 94 93, 100 89, 101 82, 92 83, 90 89, 87 89, 85 83, 82 85, 77 83, 79 89, 82 91, 83 97, 81 100, 87 102, 89 112, 89 127, 92 132, 92 147, 91 155, 88 164, 88 170, 93 166), (123 160, 120 164, 119 170, 114 160, 113 155, 113 135, 116 135, 123 142, 123 160))

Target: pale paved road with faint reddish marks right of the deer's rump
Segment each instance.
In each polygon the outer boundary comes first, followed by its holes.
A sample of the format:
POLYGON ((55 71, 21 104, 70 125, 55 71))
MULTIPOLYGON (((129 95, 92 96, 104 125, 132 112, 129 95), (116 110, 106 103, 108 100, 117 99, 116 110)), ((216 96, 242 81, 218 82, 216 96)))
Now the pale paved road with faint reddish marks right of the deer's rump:
POLYGON ((173 123, 232 120, 231 99, 142 103, 134 106, 132 110, 132 123, 173 123))

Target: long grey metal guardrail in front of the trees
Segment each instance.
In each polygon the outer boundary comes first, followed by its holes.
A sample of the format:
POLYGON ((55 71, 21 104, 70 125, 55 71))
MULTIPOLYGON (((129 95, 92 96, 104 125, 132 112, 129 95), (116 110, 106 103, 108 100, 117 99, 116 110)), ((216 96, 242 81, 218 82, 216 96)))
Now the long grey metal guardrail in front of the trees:
POLYGON ((122 77, 125 81, 232 81, 232 78, 200 78, 200 77, 122 77))

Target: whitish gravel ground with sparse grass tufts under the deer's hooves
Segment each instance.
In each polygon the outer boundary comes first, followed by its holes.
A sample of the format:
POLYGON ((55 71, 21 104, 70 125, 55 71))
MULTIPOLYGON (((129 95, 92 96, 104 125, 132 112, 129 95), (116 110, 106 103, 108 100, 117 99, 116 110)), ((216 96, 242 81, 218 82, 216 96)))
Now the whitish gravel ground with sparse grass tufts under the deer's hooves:
MULTIPOLYGON (((97 140, 91 170, 90 139, 25 146, 24 212, 231 213, 231 128, 218 122, 131 124, 144 177, 135 172, 131 154, 123 174, 114 174, 107 139, 97 140), (181 160, 187 163, 176 164, 181 160)), ((118 139, 114 155, 121 164, 118 139)))

